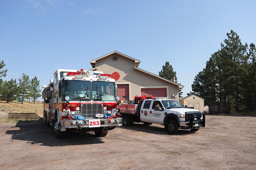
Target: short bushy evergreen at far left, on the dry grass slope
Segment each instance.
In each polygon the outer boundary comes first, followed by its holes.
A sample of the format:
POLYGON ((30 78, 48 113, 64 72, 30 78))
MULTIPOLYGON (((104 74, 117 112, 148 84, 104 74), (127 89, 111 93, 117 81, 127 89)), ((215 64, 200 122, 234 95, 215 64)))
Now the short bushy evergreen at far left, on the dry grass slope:
POLYGON ((16 79, 5 81, 2 86, 1 100, 6 100, 6 102, 9 103, 10 101, 16 99, 18 93, 19 88, 16 83, 16 79))

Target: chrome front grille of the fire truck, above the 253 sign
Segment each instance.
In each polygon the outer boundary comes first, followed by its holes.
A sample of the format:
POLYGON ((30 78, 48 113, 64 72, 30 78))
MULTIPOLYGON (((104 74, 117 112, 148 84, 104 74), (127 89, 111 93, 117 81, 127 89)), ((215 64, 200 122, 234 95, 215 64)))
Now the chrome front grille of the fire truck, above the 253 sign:
POLYGON ((94 118, 96 114, 102 114, 102 104, 81 104, 81 115, 85 118, 94 118))

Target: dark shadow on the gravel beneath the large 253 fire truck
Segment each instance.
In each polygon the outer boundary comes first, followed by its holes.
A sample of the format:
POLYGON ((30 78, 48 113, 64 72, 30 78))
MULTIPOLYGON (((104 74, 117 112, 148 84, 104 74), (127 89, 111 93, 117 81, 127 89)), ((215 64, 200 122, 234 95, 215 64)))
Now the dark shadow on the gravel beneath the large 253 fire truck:
MULTIPOLYGON (((52 127, 46 126, 44 122, 17 123, 14 130, 7 130, 6 134, 11 134, 13 140, 23 140, 30 144, 40 144, 43 146, 68 146, 104 143, 101 138, 94 134, 84 132, 67 133, 68 137, 63 139, 55 138, 52 127), (19 128, 17 130, 17 128, 19 128)), ((13 141, 11 140, 11 141, 13 141)))

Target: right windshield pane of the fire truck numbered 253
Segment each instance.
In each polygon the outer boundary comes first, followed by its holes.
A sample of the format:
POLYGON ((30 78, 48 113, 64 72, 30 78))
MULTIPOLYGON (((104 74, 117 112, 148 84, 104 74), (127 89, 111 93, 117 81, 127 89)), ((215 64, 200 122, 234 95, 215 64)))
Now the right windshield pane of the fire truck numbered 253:
POLYGON ((114 82, 92 82, 93 101, 115 101, 114 82))

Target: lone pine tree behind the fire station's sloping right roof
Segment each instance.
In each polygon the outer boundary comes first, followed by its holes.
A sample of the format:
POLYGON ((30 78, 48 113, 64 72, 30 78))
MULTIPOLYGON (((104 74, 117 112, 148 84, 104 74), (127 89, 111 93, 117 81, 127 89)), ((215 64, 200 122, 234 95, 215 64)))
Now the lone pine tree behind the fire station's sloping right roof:
MULTIPOLYGON (((165 78, 167 80, 177 82, 176 72, 173 71, 173 67, 169 62, 166 62, 165 65, 162 66, 162 70, 159 73, 159 76, 165 78), (175 78, 175 80, 173 80, 175 78)), ((179 89, 179 98, 182 98, 182 91, 179 89)))

